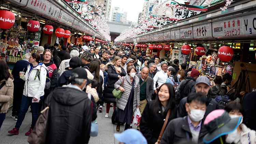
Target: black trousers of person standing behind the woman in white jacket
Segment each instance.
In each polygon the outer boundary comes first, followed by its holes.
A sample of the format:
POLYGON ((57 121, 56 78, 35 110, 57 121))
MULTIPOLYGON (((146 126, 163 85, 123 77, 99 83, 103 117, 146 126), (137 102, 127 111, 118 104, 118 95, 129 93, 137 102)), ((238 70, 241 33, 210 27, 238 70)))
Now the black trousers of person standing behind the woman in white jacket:
POLYGON ((13 85, 14 85, 14 88, 13 88, 12 115, 18 116, 25 82, 13 82, 13 85))

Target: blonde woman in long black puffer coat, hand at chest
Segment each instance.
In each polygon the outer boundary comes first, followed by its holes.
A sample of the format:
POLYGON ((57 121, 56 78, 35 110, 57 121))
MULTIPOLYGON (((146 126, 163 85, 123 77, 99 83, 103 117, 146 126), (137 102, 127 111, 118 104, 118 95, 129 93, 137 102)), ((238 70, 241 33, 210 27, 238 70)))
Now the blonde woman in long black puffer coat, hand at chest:
POLYGON ((108 81, 106 83, 106 89, 104 90, 104 102, 106 102, 105 117, 109 117, 110 103, 114 103, 114 109, 116 106, 116 98, 112 94, 112 91, 114 90, 114 84, 119 80, 119 78, 126 75, 126 72, 120 66, 120 63, 121 58, 117 56, 105 66, 105 68, 108 69, 108 81))

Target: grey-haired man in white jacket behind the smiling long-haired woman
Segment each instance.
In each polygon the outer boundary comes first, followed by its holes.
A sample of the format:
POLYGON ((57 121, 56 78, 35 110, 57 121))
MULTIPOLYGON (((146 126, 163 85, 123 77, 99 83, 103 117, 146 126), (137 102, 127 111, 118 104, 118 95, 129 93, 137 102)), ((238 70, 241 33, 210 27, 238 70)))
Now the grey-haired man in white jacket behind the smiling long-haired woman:
POLYGON ((159 86, 161 86, 163 83, 166 82, 166 79, 168 78, 167 75, 167 66, 168 63, 166 61, 162 61, 161 62, 161 70, 159 72, 156 73, 156 75, 154 76, 153 80, 154 80, 154 91, 157 94, 157 89, 159 86), (156 86, 157 83, 157 86, 156 86))

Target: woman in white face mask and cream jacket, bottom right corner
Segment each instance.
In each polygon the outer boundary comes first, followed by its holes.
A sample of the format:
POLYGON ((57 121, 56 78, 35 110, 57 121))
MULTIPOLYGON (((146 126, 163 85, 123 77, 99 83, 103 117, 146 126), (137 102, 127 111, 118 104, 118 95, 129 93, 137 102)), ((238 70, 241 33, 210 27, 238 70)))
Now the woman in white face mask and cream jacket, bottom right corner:
MULTIPOLYGON (((245 111, 243 106, 236 101, 229 102, 225 106, 225 110, 228 112, 231 118, 244 117, 245 111)), ((242 124, 243 119, 240 121, 239 126, 235 131, 228 134, 226 137, 226 143, 234 144, 255 144, 256 143, 256 133, 242 124)))

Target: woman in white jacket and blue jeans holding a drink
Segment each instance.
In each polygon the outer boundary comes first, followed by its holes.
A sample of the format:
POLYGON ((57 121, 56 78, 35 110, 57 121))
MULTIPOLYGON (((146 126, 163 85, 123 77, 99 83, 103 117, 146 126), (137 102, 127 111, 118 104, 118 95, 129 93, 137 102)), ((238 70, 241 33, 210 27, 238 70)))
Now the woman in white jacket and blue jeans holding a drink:
POLYGON ((43 100, 47 75, 47 68, 43 63, 39 63, 39 61, 39 54, 31 54, 29 58, 28 70, 24 77, 21 77, 25 81, 25 85, 20 105, 20 112, 18 114, 18 120, 16 122, 15 128, 8 131, 12 135, 19 134, 19 128, 25 118, 29 106, 31 107, 32 112, 32 124, 29 131, 26 132, 25 135, 29 135, 31 133, 39 116, 39 102, 43 100))

